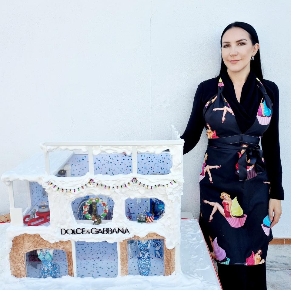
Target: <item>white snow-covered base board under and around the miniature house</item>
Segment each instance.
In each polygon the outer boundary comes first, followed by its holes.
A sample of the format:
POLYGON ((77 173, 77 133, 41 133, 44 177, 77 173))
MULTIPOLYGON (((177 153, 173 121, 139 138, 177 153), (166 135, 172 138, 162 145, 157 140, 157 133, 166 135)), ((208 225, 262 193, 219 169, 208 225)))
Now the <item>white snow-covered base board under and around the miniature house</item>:
POLYGON ((181 220, 182 274, 171 276, 128 275, 116 278, 16 278, 10 274, 5 232, 9 223, 0 224, 0 289, 1 290, 140 290, 181 289, 221 290, 209 252, 197 220, 181 220), (141 288, 142 285, 142 288, 141 288))

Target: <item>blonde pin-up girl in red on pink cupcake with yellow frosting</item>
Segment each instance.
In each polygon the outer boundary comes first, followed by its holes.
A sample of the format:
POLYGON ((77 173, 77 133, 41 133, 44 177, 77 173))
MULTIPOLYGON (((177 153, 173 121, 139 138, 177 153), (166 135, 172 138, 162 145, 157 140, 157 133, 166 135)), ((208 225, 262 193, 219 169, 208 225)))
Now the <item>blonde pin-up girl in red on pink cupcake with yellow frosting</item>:
POLYGON ((217 202, 202 200, 202 202, 213 206, 208 222, 212 221, 213 214, 218 210, 226 218, 231 227, 242 227, 247 215, 243 213, 243 209, 237 201, 237 196, 232 200, 229 194, 222 192, 220 198, 223 200, 223 207, 217 202))

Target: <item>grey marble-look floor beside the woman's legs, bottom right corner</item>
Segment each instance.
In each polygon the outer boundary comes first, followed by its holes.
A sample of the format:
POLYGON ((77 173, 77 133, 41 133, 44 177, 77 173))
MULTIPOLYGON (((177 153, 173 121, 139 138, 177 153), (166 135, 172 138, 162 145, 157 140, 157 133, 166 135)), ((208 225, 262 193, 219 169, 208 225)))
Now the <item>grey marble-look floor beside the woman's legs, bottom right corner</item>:
POLYGON ((266 268, 268 290, 291 289, 291 245, 269 245, 266 268))

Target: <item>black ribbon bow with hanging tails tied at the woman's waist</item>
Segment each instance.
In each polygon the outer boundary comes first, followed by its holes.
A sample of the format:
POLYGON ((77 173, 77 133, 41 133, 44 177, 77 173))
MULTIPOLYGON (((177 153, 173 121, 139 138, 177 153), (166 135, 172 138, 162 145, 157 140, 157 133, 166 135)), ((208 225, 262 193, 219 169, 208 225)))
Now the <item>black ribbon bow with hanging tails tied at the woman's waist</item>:
POLYGON ((239 158, 239 181, 247 180, 247 166, 255 165, 256 173, 260 174, 265 170, 265 163, 262 160, 263 150, 259 145, 254 147, 241 147, 245 149, 242 156, 239 158), (249 162, 247 162, 249 160, 249 162))

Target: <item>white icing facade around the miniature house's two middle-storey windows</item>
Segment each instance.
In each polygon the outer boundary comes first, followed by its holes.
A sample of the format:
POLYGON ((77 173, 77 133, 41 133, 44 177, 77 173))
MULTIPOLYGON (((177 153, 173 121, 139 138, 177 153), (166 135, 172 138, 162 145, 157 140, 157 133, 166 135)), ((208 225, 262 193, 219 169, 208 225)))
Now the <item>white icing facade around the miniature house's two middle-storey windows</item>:
MULTIPOLYGON (((166 238, 166 247, 172 249, 180 242, 180 210, 181 210, 181 194, 182 194, 182 184, 183 180, 177 180, 176 183, 169 187, 157 187, 153 189, 146 189, 146 187, 138 185, 138 183, 132 184, 127 187, 114 188, 113 186, 121 185, 126 181, 131 181, 134 177, 132 174, 129 175, 119 175, 122 176, 118 178, 115 176, 102 176, 101 174, 96 176, 90 176, 87 173, 85 176, 81 177, 56 177, 56 176, 45 176, 43 179, 43 187, 49 193, 49 206, 50 206, 50 227, 38 226, 38 227, 20 227, 17 231, 12 232, 15 235, 18 234, 34 234, 38 233, 41 237, 51 243, 55 241, 108 241, 113 243, 115 241, 122 241, 126 238, 133 237, 137 235, 139 237, 144 237, 149 233, 157 233, 166 238), (94 185, 89 185, 88 181, 90 179, 94 180, 104 180, 104 184, 110 186, 110 189, 100 188, 94 185), (57 184, 60 188, 81 188, 81 185, 87 183, 87 186, 80 191, 76 190, 75 193, 61 192, 57 191, 57 186, 49 186, 48 181, 53 184, 57 184), (123 183, 122 183, 123 182, 123 183), (86 195, 103 195, 110 196, 114 201, 113 217, 112 221, 106 224, 93 225, 88 223, 77 223, 72 211, 72 201, 78 197, 86 195), (137 222, 129 221, 125 216, 125 200, 127 198, 158 198, 165 203, 165 214, 162 218, 157 220, 156 223, 152 224, 140 224, 137 222), (128 228, 130 234, 80 234, 80 235, 61 235, 61 228, 128 228)), ((165 179, 165 177, 170 177, 169 175, 137 175, 135 176, 138 180, 142 181, 149 186, 154 184, 166 184, 173 180, 171 178, 165 179)), ((13 238, 13 237, 12 237, 13 238)))

